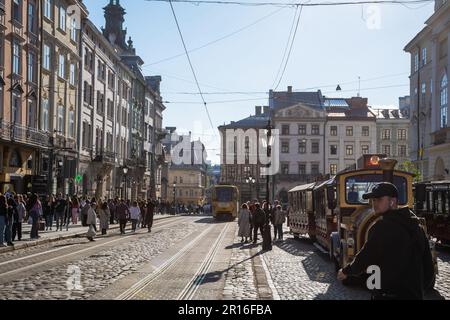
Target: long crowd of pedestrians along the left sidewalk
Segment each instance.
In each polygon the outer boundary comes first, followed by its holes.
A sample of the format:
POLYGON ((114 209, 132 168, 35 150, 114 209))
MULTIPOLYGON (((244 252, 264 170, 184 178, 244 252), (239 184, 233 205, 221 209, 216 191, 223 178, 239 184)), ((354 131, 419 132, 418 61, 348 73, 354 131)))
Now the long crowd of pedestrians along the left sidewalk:
POLYGON ((69 230, 69 225, 89 227, 87 237, 94 241, 99 224, 102 235, 109 226, 120 224, 121 234, 125 234, 128 222, 132 232, 136 228, 148 228, 151 232, 153 216, 167 211, 164 203, 149 200, 130 201, 123 199, 88 199, 48 195, 39 198, 36 194, 0 194, 0 247, 13 246, 22 241, 22 224, 31 225, 30 239, 39 239, 39 231, 69 230), (99 222, 99 223, 98 223, 99 222))

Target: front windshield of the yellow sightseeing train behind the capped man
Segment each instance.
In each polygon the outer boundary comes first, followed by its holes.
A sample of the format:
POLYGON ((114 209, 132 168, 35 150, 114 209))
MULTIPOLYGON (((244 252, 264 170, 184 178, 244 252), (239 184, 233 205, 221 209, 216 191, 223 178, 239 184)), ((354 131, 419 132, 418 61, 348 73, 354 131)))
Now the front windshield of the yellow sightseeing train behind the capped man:
MULTIPOLYGON (((372 188, 382 182, 380 174, 365 174, 349 177, 345 180, 346 201, 349 204, 368 204, 369 200, 362 198, 364 193, 370 192, 372 188)), ((408 201, 407 181, 404 177, 394 176, 394 184, 398 189, 398 203, 405 205, 408 201)))

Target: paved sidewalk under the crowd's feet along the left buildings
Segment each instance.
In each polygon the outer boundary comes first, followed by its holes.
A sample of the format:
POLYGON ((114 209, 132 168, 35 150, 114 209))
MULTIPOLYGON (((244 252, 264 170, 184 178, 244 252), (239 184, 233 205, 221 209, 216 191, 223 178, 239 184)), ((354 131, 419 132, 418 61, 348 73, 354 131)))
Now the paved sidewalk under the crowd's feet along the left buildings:
MULTIPOLYGON (((170 218, 170 217, 175 217, 175 216, 167 215, 167 214, 166 215, 157 214, 157 215, 155 215, 154 220, 156 221, 159 219, 166 219, 166 218, 170 218)), ((127 225, 128 225, 128 227, 131 226, 130 223, 128 223, 127 225)), ((119 224, 113 224, 113 225, 109 226, 109 231, 117 230, 117 229, 119 229, 119 224)), ((14 246, 0 248, 0 254, 4 253, 4 252, 13 251, 13 250, 20 250, 20 249, 24 249, 24 248, 34 247, 34 246, 48 243, 48 242, 54 242, 54 241, 60 241, 60 240, 65 240, 65 239, 70 239, 70 238, 81 237, 86 234, 87 230, 88 230, 88 227, 83 227, 81 225, 80 221, 76 225, 70 224, 68 231, 66 231, 65 226, 63 227, 63 231, 56 231, 56 224, 53 224, 52 231, 39 231, 39 237, 40 237, 39 240, 31 240, 30 239, 31 225, 29 225, 28 223, 23 223, 22 224, 22 241, 17 241, 17 237, 16 237, 16 241, 13 241, 14 246)), ((98 230, 98 223, 97 223, 97 230, 98 230)))

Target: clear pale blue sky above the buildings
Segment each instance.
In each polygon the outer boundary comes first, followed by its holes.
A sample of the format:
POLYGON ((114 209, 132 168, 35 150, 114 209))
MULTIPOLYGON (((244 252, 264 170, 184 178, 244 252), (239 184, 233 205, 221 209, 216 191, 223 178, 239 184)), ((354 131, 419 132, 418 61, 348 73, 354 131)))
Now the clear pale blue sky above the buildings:
MULTIPOLYGON (((84 2, 90 19, 97 27, 104 26, 102 8, 109 0, 84 2)), ((166 104, 163 126, 176 126, 182 133, 192 131, 205 143, 208 159, 218 163, 217 130, 211 129, 200 96, 178 94, 198 92, 186 56, 153 64, 184 52, 170 5, 144 0, 122 0, 121 4, 127 12, 127 36, 132 36, 145 61, 143 72, 163 78, 162 96, 171 102, 166 104)), ((415 9, 401 5, 382 5, 375 10, 369 5, 304 8, 278 90, 286 90, 288 85, 294 90, 319 87, 328 96, 356 96, 360 76, 361 95, 369 98, 370 105, 398 105, 398 97, 409 94, 410 57, 403 48, 424 27, 434 3, 410 7, 415 9), (374 18, 377 12, 380 19, 374 18), (373 78, 379 79, 369 80, 373 78), (340 94, 334 91, 337 84, 343 89, 340 94)), ((203 92, 256 92, 206 94, 215 128, 254 114, 255 105, 267 105, 268 94, 263 92, 274 83, 295 9, 184 3, 175 3, 174 8, 188 49, 275 12, 242 32, 190 54, 203 92), (214 103, 242 99, 257 100, 214 103)))

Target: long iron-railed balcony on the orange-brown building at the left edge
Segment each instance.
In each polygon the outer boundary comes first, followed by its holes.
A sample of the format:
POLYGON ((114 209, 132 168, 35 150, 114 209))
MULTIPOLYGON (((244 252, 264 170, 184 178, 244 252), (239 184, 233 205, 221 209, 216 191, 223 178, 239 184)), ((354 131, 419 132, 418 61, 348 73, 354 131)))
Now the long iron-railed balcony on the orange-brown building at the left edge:
POLYGON ((38 129, 6 121, 0 123, 0 138, 40 148, 48 148, 50 142, 48 135, 38 129))

